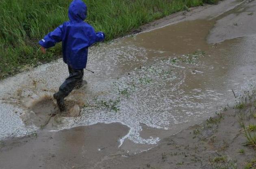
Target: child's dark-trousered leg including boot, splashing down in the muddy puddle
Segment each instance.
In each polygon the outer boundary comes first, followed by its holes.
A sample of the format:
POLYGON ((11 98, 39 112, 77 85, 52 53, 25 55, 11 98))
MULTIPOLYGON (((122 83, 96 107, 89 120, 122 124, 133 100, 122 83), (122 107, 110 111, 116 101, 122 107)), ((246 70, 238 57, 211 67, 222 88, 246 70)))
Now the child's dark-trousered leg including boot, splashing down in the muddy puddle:
POLYGON ((54 94, 54 98, 57 100, 58 106, 61 111, 65 109, 64 98, 69 95, 74 89, 76 84, 82 80, 84 75, 83 69, 73 69, 68 67, 69 77, 62 83, 59 88, 59 92, 54 94))

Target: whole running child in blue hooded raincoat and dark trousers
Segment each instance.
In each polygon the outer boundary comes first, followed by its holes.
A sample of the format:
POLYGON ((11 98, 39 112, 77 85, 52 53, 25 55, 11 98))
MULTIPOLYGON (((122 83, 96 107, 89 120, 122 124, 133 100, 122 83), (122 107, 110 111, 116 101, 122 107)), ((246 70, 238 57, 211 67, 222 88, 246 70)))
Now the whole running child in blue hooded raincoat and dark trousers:
POLYGON ((64 98, 76 87, 81 86, 84 68, 87 64, 88 47, 93 43, 104 40, 103 32, 95 32, 93 27, 84 20, 87 15, 87 6, 82 0, 73 0, 69 6, 69 21, 46 35, 39 45, 41 51, 53 47, 62 41, 63 61, 67 64, 69 77, 60 86, 59 92, 53 97, 56 99, 60 111, 65 110, 64 98))

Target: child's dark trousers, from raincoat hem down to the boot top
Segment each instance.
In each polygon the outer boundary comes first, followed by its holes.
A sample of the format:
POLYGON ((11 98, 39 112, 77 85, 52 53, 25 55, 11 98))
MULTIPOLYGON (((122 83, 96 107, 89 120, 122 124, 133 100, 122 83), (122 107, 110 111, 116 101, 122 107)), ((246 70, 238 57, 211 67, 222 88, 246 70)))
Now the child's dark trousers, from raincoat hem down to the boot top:
POLYGON ((59 94, 62 97, 66 97, 70 92, 78 85, 82 83, 82 78, 84 76, 84 69, 74 69, 68 66, 69 77, 62 83, 59 88, 59 94))

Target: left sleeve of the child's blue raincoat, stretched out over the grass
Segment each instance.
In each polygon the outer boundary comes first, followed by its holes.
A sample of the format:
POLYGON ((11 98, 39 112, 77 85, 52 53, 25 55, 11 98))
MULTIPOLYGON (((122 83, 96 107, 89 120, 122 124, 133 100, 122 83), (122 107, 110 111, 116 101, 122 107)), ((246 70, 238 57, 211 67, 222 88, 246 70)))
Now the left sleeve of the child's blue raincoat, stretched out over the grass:
POLYGON ((46 49, 55 46, 56 43, 62 40, 62 30, 63 25, 57 27, 54 31, 44 36, 44 38, 39 41, 39 45, 46 49))

